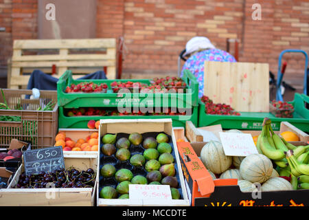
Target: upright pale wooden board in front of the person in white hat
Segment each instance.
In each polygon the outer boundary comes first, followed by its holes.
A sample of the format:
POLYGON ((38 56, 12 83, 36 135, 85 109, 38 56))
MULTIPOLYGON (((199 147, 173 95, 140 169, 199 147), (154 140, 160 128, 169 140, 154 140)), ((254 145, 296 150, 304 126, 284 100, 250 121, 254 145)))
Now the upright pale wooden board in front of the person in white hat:
POLYGON ((236 111, 269 111, 267 63, 205 62, 204 95, 236 111))

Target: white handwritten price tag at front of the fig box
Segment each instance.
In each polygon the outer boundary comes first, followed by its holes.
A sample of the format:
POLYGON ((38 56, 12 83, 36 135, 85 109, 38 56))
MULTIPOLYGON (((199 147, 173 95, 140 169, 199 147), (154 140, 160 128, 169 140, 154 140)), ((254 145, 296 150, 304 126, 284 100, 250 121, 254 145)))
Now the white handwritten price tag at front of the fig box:
POLYGON ((129 185, 130 199, 172 199, 168 185, 129 185))

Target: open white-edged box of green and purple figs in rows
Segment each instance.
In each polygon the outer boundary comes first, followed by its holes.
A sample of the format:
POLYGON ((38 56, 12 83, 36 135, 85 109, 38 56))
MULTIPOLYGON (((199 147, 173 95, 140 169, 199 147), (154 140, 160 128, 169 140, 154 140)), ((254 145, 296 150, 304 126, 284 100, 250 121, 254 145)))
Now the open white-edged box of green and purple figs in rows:
POLYGON ((189 206, 171 119, 100 120, 99 133, 98 206, 189 206), (172 198, 133 199, 130 184, 168 185, 172 198))

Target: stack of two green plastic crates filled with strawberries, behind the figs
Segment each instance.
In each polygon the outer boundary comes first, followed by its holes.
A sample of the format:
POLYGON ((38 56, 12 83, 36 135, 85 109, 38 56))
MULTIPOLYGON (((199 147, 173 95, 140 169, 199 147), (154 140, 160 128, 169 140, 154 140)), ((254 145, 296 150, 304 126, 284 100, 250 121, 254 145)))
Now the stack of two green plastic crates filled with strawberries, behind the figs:
POLYGON ((173 126, 185 126, 186 120, 198 123, 198 84, 190 72, 183 78, 81 81, 68 71, 57 85, 60 128, 82 129, 89 120, 119 118, 172 118, 173 126), (82 92, 78 85, 107 88, 82 92))

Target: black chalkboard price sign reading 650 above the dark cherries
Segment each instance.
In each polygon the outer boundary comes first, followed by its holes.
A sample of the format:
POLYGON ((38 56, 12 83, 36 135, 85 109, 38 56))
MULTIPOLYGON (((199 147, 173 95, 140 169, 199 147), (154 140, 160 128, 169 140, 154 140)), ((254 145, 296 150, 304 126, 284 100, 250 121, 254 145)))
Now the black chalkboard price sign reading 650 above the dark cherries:
POLYGON ((62 146, 34 149, 23 152, 25 174, 38 174, 41 171, 52 172, 65 168, 62 146))

